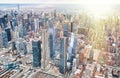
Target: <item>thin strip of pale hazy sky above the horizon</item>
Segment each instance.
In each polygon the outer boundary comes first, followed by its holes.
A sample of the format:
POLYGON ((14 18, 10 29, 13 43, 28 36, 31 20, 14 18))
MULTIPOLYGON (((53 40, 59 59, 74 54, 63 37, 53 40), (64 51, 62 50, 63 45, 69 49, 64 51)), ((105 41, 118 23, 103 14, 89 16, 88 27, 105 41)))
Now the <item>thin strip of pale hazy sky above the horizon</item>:
POLYGON ((80 4, 80 3, 93 3, 93 4, 114 4, 120 3, 120 0, 0 0, 0 3, 44 3, 44 4, 80 4))

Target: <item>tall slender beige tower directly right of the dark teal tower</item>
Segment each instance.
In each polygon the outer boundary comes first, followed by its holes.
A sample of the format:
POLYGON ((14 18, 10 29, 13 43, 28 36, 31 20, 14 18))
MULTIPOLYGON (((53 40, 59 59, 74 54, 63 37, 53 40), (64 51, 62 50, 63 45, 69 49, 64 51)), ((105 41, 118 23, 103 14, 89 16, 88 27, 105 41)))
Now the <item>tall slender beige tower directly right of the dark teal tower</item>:
POLYGON ((42 63, 43 69, 49 64, 50 61, 50 50, 48 42, 48 31, 47 29, 42 29, 42 63))

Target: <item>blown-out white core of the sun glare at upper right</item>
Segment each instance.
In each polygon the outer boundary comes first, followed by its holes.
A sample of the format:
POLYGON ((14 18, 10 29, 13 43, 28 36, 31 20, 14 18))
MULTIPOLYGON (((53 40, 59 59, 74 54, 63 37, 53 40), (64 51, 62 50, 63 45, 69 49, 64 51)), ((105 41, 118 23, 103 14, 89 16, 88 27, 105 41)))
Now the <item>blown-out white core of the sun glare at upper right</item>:
POLYGON ((112 9, 113 1, 105 1, 105 0, 93 0, 83 2, 82 5, 87 11, 88 14, 93 14, 94 16, 101 16, 109 14, 112 9))

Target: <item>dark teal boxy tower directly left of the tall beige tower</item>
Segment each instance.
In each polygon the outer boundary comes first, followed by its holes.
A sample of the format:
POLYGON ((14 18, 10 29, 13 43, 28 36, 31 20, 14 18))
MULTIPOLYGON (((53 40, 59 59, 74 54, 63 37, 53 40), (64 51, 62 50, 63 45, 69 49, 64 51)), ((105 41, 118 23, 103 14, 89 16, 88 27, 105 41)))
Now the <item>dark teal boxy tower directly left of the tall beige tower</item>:
POLYGON ((33 51, 33 67, 41 66, 41 42, 39 40, 32 41, 33 51))

